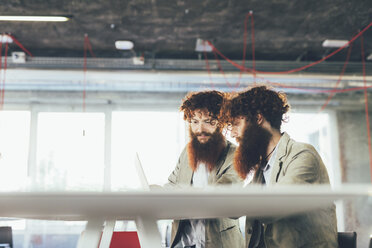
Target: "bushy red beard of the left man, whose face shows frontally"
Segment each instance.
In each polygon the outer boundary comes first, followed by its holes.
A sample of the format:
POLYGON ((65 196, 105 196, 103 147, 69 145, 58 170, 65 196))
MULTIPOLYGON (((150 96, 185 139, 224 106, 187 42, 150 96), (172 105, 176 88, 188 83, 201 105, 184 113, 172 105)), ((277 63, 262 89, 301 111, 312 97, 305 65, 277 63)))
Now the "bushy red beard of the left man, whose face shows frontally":
POLYGON ((221 130, 217 128, 214 133, 194 133, 190 128, 189 132, 191 141, 187 144, 187 154, 191 169, 195 171, 199 163, 205 163, 208 171, 212 171, 226 146, 221 130), (210 137, 206 143, 199 142, 198 135, 201 134, 210 137))

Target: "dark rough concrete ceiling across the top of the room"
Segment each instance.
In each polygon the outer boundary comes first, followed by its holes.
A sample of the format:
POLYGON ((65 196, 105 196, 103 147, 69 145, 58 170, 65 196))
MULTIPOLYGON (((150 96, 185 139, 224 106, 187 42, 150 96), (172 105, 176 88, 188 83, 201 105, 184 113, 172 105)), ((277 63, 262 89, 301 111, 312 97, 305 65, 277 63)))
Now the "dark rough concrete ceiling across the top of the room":
MULTIPOLYGON (((243 54, 244 19, 253 11, 256 60, 315 61, 334 49, 325 39, 353 37, 372 22, 371 0, 12 0, 1 1, 1 15, 72 15, 65 23, 0 22, 34 56, 83 57, 84 34, 97 57, 131 56, 115 49, 131 40, 145 57, 197 59, 197 38, 210 40, 232 59, 243 54)), ((248 23, 250 27, 250 23, 248 23)), ((248 28, 246 58, 252 58, 248 28)), ((372 28, 364 34, 372 53, 372 28)), ((4 49, 4 47, 3 47, 4 49)), ((16 44, 11 51, 19 51, 16 44)), ((346 49, 345 49, 346 50, 346 49)), ((3 50, 4 52, 4 50, 3 50)), ((214 59, 213 53, 208 55, 214 59)), ((346 51, 330 61, 344 61, 346 51)), ((351 61, 361 61, 360 39, 351 61)))

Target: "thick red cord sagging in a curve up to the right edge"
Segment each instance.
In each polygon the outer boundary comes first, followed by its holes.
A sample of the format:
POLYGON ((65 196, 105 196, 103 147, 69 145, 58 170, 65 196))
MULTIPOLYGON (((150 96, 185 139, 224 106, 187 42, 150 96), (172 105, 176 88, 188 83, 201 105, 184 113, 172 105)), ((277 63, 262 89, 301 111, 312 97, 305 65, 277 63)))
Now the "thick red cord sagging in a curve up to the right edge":
POLYGON ((215 46, 213 46, 213 44, 210 42, 210 41, 207 41, 208 44, 212 47, 213 50, 216 50, 216 52, 222 57, 224 58, 226 61, 228 61, 230 64, 232 64, 233 66, 235 66, 236 68, 238 68, 239 70, 243 70, 243 71, 248 71, 248 72, 255 72, 255 73, 261 73, 261 74, 290 74, 290 73, 294 73, 294 72, 299 72, 299 71, 302 71, 302 70, 305 70, 309 67, 312 67, 314 65, 317 65, 327 59, 329 59, 330 57, 334 56, 335 54, 339 53, 342 49, 344 49, 345 47, 349 46, 351 43, 353 43, 359 36, 361 36, 365 31, 367 31, 370 27, 372 26, 372 22, 370 24, 368 24, 368 26, 366 26, 362 31, 360 31, 357 35, 355 35, 350 41, 348 41, 344 46, 338 48, 337 50, 333 51, 332 53, 328 54, 327 56, 325 56, 324 58, 318 60, 318 61, 315 61, 313 63, 310 63, 308 65, 305 65, 305 66, 302 66, 302 67, 299 67, 299 68, 295 68, 295 69, 292 69, 292 70, 288 70, 288 71, 280 71, 280 72, 268 72, 268 71, 257 71, 257 70, 254 70, 254 69, 251 69, 251 68, 246 68, 246 67, 242 67, 240 66, 239 64, 235 63, 234 61, 232 61, 231 59, 227 58, 224 54, 222 54, 215 46))

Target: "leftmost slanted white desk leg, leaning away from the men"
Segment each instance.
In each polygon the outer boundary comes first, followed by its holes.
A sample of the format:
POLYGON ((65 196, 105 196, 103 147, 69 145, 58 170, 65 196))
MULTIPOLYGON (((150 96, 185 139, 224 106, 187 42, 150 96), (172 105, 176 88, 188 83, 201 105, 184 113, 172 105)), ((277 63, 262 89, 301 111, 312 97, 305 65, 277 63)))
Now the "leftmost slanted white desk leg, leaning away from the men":
POLYGON ((77 248, 96 248, 102 235, 103 220, 88 220, 77 248))

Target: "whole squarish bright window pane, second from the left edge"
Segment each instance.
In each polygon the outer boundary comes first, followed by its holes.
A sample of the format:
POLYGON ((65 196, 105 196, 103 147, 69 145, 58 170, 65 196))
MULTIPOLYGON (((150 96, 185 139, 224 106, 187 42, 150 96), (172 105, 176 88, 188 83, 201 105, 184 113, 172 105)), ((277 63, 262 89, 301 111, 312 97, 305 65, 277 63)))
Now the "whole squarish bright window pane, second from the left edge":
POLYGON ((103 113, 40 113, 38 190, 102 190, 103 113))

